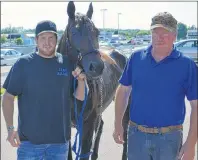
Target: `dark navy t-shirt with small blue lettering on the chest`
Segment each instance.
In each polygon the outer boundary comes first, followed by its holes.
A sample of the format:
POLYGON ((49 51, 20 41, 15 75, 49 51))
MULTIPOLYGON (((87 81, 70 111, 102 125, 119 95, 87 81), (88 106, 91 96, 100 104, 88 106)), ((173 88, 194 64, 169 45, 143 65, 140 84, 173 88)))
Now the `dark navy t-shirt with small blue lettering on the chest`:
POLYGON ((57 53, 43 58, 35 53, 20 58, 3 87, 18 96, 18 132, 33 144, 65 143, 71 136, 72 68, 57 53))

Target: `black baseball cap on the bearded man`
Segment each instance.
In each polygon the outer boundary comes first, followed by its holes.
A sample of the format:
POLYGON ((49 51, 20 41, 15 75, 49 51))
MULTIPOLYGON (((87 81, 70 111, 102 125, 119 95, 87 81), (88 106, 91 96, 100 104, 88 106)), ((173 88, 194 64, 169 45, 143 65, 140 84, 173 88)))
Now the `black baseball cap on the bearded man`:
POLYGON ((44 20, 37 24, 35 35, 38 36, 44 32, 52 32, 57 34, 56 24, 50 20, 44 20))

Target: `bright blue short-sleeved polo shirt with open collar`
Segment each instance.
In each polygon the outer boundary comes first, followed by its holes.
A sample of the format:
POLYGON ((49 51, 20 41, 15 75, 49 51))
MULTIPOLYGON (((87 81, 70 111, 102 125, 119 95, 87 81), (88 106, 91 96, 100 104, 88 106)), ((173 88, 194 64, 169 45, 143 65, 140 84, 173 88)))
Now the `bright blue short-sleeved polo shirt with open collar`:
POLYGON ((135 51, 119 80, 132 85, 130 120, 149 127, 182 124, 185 96, 189 101, 198 99, 197 66, 176 49, 156 62, 151 49, 135 51))

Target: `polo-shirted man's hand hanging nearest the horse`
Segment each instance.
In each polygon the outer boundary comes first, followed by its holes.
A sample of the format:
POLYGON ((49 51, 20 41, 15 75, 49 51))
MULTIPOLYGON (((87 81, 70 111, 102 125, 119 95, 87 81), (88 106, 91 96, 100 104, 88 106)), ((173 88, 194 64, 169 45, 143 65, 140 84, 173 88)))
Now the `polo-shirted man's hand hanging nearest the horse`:
POLYGON ((123 139, 123 134, 124 134, 124 130, 122 125, 115 125, 115 129, 113 132, 113 138, 115 140, 116 143, 118 144, 123 144, 124 143, 124 139, 123 139))

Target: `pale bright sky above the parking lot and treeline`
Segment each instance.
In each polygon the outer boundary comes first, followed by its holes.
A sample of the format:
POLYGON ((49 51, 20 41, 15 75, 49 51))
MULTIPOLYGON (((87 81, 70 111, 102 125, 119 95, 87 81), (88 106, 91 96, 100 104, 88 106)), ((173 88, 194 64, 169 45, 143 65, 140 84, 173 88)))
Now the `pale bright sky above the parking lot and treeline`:
MULTIPOLYGON (((76 11, 86 13, 90 2, 75 2, 76 11)), ((68 2, 2 2, 1 28, 9 24, 15 27, 35 28, 44 19, 57 24, 58 29, 67 25, 68 2)), ((179 22, 197 26, 197 2, 93 2, 93 21, 102 28, 101 9, 105 12, 105 28, 117 28, 120 15, 121 29, 149 29, 151 18, 160 11, 170 12, 179 22)))

